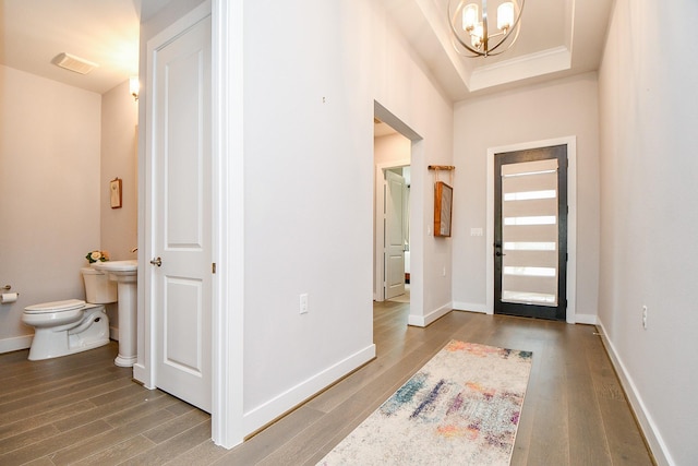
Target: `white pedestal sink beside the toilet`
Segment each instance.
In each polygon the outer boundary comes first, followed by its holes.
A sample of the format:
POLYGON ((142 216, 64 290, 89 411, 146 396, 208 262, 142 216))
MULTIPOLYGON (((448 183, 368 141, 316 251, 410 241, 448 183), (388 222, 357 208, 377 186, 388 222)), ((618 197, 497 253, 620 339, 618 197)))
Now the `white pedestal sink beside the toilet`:
POLYGON ((137 273, 139 263, 130 261, 95 262, 93 268, 109 274, 109 279, 117 282, 119 302, 119 356, 113 363, 130 368, 136 361, 136 309, 137 309, 137 273))

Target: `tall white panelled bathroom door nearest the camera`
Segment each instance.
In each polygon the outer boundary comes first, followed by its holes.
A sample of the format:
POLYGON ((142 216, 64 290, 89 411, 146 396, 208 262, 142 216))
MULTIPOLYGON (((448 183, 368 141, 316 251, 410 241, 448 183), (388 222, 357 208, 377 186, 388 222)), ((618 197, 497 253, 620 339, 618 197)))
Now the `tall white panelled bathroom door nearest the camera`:
POLYGON ((155 385, 210 411, 210 16, 151 59, 155 385))

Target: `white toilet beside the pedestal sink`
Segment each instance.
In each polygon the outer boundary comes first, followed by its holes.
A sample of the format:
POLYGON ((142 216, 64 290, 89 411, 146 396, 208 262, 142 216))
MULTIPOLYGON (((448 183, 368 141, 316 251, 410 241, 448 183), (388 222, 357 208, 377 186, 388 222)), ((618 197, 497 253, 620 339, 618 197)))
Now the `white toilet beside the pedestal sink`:
POLYGON ((86 351, 109 343, 109 319, 104 304, 117 302, 117 283, 92 267, 80 272, 86 302, 68 299, 24 308, 22 322, 34 327, 31 361, 86 351))

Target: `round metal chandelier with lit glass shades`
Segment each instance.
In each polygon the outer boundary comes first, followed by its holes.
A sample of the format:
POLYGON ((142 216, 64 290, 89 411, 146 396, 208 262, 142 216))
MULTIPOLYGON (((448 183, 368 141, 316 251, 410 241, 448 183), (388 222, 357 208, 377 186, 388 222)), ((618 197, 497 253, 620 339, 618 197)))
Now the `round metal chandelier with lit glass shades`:
POLYGON ((466 3, 466 1, 448 0, 448 25, 453 33, 456 51, 467 57, 490 57, 508 50, 516 43, 526 0, 490 1, 491 5, 498 3, 496 31, 494 19, 488 11, 488 0, 480 0, 481 8, 477 2, 466 3), (454 8, 455 3, 457 3, 456 8, 454 8))

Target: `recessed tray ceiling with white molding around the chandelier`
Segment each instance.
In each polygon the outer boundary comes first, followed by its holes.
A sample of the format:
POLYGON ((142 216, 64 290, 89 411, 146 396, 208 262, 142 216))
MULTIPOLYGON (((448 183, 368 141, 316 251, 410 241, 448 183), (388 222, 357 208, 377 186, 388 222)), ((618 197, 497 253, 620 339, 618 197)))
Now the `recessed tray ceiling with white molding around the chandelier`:
MULTIPOLYGON (((488 4, 496 10, 500 1, 489 0, 488 4)), ((448 0, 389 0, 386 4, 388 16, 444 91, 461 100, 482 92, 593 71, 602 50, 598 38, 605 37, 612 1, 526 0, 517 43, 486 58, 456 52, 448 0)))

